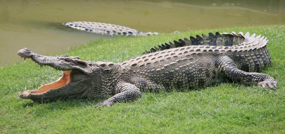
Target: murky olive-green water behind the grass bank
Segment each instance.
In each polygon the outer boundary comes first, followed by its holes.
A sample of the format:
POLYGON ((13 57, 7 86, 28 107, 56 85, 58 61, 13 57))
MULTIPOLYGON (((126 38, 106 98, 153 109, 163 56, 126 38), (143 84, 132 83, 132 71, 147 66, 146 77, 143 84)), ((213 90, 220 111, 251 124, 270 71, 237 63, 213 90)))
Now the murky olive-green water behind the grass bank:
POLYGON ((111 23, 160 33, 284 24, 285 1, 0 0, 0 64, 19 60, 17 51, 25 47, 51 54, 89 40, 111 38, 58 25, 71 21, 111 23))

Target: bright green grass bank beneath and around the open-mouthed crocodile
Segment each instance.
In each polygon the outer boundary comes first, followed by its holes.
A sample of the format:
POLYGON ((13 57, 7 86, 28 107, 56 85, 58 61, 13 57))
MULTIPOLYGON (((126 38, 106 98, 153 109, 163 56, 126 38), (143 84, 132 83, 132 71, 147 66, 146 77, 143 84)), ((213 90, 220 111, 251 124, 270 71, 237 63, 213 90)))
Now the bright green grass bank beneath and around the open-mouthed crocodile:
MULTIPOLYGON (((269 39, 272 64, 263 70, 280 88, 223 83, 183 92, 143 93, 142 98, 94 108, 102 100, 38 104, 18 92, 38 88, 62 74, 30 60, 0 67, 0 133, 285 133, 285 26, 235 27, 147 37, 116 37, 73 48, 83 60, 121 62, 152 46, 208 32, 243 31, 269 39)), ((56 49, 56 48, 55 48, 56 49)))

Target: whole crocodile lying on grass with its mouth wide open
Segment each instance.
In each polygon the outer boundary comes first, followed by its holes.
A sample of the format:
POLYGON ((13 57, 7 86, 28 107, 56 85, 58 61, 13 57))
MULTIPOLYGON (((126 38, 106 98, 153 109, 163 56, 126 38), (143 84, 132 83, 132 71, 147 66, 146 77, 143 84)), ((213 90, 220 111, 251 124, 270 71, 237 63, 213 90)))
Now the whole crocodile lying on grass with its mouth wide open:
POLYGON ((278 88, 274 78, 259 73, 271 63, 268 40, 249 33, 209 33, 179 39, 147 50, 120 63, 91 62, 68 55, 42 56, 28 48, 18 51, 42 66, 63 71, 63 76, 20 98, 46 102, 63 96, 107 100, 96 106, 132 101, 142 92, 207 87, 221 82, 240 82, 260 88, 278 88))

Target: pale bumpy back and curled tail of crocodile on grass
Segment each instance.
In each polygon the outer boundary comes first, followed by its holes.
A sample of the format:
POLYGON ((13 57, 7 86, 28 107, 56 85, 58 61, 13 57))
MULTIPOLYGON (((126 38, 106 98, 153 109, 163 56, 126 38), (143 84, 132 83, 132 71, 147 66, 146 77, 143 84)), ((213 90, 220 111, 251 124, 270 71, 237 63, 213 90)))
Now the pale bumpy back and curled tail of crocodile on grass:
POLYGON ((186 64, 191 60, 223 53, 229 55, 239 69, 246 72, 259 72, 271 62, 266 47, 268 40, 264 36, 249 33, 244 35, 242 32, 239 34, 217 32, 215 35, 209 33, 209 36, 205 34, 202 36, 197 35, 197 38, 184 38, 184 40, 162 44, 152 48, 152 52, 146 51, 146 54, 120 64, 132 68, 151 68, 153 64, 173 62, 186 64))

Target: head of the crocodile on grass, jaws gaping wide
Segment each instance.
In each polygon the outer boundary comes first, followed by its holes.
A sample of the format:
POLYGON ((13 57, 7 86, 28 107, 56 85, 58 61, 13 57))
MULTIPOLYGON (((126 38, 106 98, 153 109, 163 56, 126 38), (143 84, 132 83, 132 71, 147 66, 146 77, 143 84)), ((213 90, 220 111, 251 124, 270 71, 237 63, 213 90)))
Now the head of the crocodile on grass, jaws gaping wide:
POLYGON ((28 48, 19 50, 18 55, 24 59, 30 58, 41 67, 50 66, 63 71, 63 76, 55 82, 44 84, 36 90, 25 88, 25 91, 19 94, 20 98, 33 101, 45 102, 62 97, 80 98, 86 88, 90 86, 91 72, 96 70, 91 62, 82 61, 79 57, 42 56, 31 52, 28 48))

